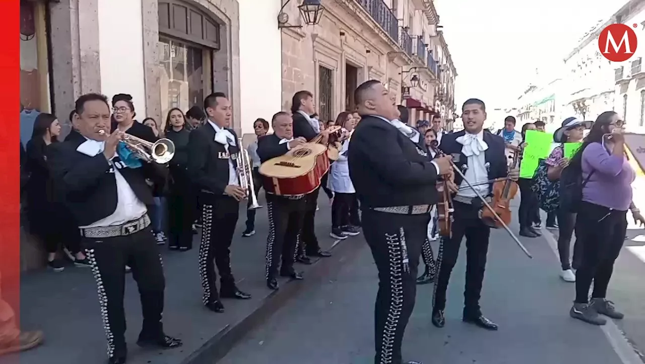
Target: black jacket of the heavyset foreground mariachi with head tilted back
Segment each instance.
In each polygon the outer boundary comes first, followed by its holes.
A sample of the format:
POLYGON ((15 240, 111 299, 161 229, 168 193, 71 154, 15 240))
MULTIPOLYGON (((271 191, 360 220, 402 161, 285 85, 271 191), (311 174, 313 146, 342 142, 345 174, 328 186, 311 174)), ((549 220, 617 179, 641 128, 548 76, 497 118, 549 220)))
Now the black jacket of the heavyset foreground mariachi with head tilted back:
POLYGON ((361 209, 437 203, 435 166, 415 142, 379 117, 362 117, 348 160, 361 209))

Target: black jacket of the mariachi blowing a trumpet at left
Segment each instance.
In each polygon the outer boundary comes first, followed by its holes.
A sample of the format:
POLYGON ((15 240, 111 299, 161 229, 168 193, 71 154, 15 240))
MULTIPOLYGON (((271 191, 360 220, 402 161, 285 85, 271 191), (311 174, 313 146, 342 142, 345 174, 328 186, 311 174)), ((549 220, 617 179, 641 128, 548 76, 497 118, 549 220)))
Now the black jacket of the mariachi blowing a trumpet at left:
MULTIPOLYGON (((80 226, 89 225, 112 215, 117 207, 117 184, 114 170, 103 153, 94 157, 76 149, 84 140, 70 140, 50 145, 48 164, 54 184, 80 226)), ((117 158, 115 158, 117 159, 117 158)), ((113 160, 115 161, 115 160, 113 160)), ((152 191, 146 178, 155 183, 166 180, 168 169, 143 162, 141 168, 119 168, 119 172, 143 204, 153 205, 152 191)))

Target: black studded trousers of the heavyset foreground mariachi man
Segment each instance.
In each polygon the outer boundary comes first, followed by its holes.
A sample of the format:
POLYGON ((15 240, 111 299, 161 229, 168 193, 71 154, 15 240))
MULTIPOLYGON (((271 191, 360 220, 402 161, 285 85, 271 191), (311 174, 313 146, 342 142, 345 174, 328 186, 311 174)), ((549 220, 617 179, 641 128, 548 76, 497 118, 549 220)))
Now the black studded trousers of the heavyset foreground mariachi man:
POLYGON ((363 233, 379 270, 374 308, 376 364, 401 364, 401 343, 417 294, 417 265, 429 214, 363 211, 363 233))

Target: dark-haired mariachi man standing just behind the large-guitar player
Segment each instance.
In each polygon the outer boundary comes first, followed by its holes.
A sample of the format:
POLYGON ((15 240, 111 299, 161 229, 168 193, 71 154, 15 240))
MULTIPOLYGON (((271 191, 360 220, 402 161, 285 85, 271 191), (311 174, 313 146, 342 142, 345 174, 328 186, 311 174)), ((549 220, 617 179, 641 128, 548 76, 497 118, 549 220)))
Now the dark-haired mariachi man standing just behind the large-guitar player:
MULTIPOLYGON (((319 134, 323 135, 321 143, 326 143, 329 133, 320 129, 318 120, 313 119, 315 105, 313 104, 313 94, 309 91, 298 91, 293 95, 291 112, 293 114, 293 137, 304 138, 307 141, 312 140, 319 134)), ((323 178, 326 180, 326 178, 323 178)), ((328 251, 323 251, 318 244, 315 233, 315 216, 318 205, 318 193, 320 187, 312 193, 305 196, 305 213, 303 229, 299 236, 297 247, 298 262, 311 264, 310 256, 326 257, 332 256, 328 251)))

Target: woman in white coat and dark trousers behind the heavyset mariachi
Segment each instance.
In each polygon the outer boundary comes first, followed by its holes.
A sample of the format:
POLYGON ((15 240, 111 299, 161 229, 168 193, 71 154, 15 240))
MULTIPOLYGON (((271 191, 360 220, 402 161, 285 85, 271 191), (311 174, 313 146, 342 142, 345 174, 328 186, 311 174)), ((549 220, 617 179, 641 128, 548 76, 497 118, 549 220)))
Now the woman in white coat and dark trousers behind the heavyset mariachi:
POLYGON ((347 152, 350 146, 350 133, 355 120, 351 113, 343 111, 336 119, 336 125, 341 127, 342 148, 338 160, 332 163, 328 177, 328 187, 333 191, 332 202, 332 232, 335 239, 346 239, 347 236, 359 235, 359 206, 356 191, 350 178, 350 168, 347 162, 347 152))

